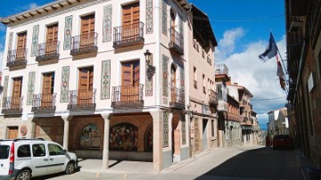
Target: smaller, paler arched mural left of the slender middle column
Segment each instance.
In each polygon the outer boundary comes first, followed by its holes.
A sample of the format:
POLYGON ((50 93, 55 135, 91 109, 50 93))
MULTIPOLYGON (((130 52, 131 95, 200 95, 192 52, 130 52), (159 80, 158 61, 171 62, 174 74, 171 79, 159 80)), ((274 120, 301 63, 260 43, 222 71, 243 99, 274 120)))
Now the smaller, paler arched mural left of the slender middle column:
POLYGON ((95 124, 84 127, 80 135, 80 148, 99 148, 101 134, 95 124))

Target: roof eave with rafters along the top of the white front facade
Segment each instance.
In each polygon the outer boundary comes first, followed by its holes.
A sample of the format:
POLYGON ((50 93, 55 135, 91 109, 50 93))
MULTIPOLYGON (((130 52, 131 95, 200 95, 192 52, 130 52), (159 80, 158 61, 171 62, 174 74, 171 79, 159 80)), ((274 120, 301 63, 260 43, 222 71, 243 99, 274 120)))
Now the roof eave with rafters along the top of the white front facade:
POLYGON ((33 18, 43 13, 53 12, 58 9, 62 9, 63 7, 68 5, 70 6, 72 4, 79 4, 81 3, 81 1, 84 1, 84 0, 55 0, 55 1, 53 0, 52 3, 45 4, 28 11, 20 12, 20 13, 8 16, 6 18, 3 18, 1 19, 1 22, 4 25, 7 25, 20 20, 28 20, 29 18, 33 18))

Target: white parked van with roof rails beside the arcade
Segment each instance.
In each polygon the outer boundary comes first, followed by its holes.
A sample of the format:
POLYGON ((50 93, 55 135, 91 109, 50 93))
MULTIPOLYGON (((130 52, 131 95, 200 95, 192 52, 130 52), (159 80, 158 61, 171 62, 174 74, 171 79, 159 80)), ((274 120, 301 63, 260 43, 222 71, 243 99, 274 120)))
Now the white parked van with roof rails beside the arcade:
POLYGON ((44 139, 0 140, 0 179, 30 179, 78 168, 75 153, 44 139))

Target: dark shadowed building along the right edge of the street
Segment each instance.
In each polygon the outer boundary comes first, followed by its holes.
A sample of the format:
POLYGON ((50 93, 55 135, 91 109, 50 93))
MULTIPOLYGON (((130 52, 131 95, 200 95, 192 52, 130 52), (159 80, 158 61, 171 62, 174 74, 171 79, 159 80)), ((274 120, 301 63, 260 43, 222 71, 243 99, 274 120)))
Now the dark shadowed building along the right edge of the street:
POLYGON ((320 168, 321 2, 285 0, 285 17, 291 135, 320 168))

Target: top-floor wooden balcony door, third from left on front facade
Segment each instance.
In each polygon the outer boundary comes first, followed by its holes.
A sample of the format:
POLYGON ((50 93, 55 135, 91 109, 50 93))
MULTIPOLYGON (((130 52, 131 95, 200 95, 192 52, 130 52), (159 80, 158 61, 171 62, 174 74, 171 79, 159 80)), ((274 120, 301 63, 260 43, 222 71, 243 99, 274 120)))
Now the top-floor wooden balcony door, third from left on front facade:
POLYGON ((95 45, 95 13, 81 17, 80 48, 95 45))

